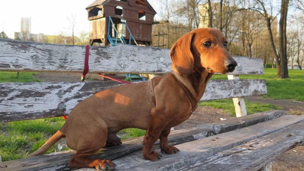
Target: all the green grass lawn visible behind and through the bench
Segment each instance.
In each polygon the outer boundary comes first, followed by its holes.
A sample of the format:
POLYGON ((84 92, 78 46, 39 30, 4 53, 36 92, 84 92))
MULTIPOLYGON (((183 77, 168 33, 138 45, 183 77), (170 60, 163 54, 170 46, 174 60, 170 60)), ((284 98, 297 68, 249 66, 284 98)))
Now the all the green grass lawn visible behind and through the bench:
MULTIPOLYGON (((34 73, 0 72, 0 82, 39 82, 34 73)), ((265 75, 241 75, 241 79, 265 79, 268 94, 273 99, 295 99, 304 101, 304 71, 289 70, 290 79, 276 79, 275 69, 265 69, 265 75), (283 90, 284 89, 284 90, 283 90), (283 93, 282 93, 283 92, 283 93)), ((214 75, 212 79, 227 79, 226 75, 214 75)), ((235 115, 232 99, 213 100, 200 103, 200 106, 221 108, 235 115)), ((248 114, 280 109, 278 106, 264 103, 246 102, 248 114)), ((3 161, 19 159, 35 151, 44 144, 62 125, 61 117, 0 123, 0 154, 3 161)), ((119 132, 122 139, 138 137, 145 134, 144 130, 125 129, 119 132)), ((63 149, 64 150, 64 149, 63 149)), ((57 151, 54 145, 47 153, 57 151)))

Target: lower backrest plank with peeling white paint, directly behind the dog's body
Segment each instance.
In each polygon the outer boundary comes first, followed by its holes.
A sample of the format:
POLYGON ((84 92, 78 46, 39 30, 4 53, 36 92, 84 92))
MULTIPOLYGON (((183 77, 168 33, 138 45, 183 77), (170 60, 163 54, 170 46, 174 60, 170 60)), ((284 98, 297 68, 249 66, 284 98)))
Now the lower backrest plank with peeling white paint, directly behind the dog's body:
MULTIPOLYGON (((81 100, 118 82, 0 83, 0 123, 68 115, 81 100)), ((135 93, 135 92, 133 92, 135 93)), ((267 93, 262 79, 210 80, 201 100, 267 93)))

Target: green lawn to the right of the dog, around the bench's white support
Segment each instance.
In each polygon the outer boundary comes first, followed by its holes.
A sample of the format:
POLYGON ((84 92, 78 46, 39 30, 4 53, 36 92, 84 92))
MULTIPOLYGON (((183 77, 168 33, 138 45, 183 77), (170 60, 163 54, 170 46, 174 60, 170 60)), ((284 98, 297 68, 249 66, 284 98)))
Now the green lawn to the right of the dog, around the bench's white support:
MULTIPOLYGON (((266 68, 264 75, 240 75, 240 79, 265 79, 267 95, 272 99, 294 99, 304 101, 304 70, 289 70, 289 79, 277 79, 277 70, 266 68)), ((214 75, 211 79, 227 79, 227 75, 214 75)), ((247 114, 280 109, 279 106, 266 103, 246 101, 247 114)), ((212 100, 199 103, 200 106, 212 106, 226 110, 235 116, 233 101, 231 99, 212 100), (224 105, 223 105, 224 104, 224 105)))

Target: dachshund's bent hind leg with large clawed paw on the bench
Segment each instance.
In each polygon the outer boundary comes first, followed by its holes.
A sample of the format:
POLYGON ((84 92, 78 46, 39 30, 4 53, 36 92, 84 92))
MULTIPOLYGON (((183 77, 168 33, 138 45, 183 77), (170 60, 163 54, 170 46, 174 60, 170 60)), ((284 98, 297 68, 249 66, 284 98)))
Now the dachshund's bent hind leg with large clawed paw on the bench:
MULTIPOLYGON (((114 163, 105 159, 91 159, 90 155, 97 152, 106 145, 108 128, 104 120, 91 122, 94 126, 90 129, 82 129, 78 132, 79 137, 73 137, 71 141, 76 141, 76 154, 69 161, 71 168, 96 168, 97 170, 113 170, 114 163)), ((69 138, 69 137, 68 137, 69 138)))

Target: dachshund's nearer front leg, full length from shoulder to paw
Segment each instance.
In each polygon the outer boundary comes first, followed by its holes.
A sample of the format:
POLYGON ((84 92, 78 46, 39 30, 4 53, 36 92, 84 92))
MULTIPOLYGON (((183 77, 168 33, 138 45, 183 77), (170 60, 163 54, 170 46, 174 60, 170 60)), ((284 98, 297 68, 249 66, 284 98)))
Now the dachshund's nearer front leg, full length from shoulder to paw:
POLYGON ((159 138, 161 131, 171 121, 164 111, 164 107, 155 107, 151 110, 150 122, 143 138, 143 158, 146 160, 156 161, 162 155, 152 151, 154 142, 159 138))

